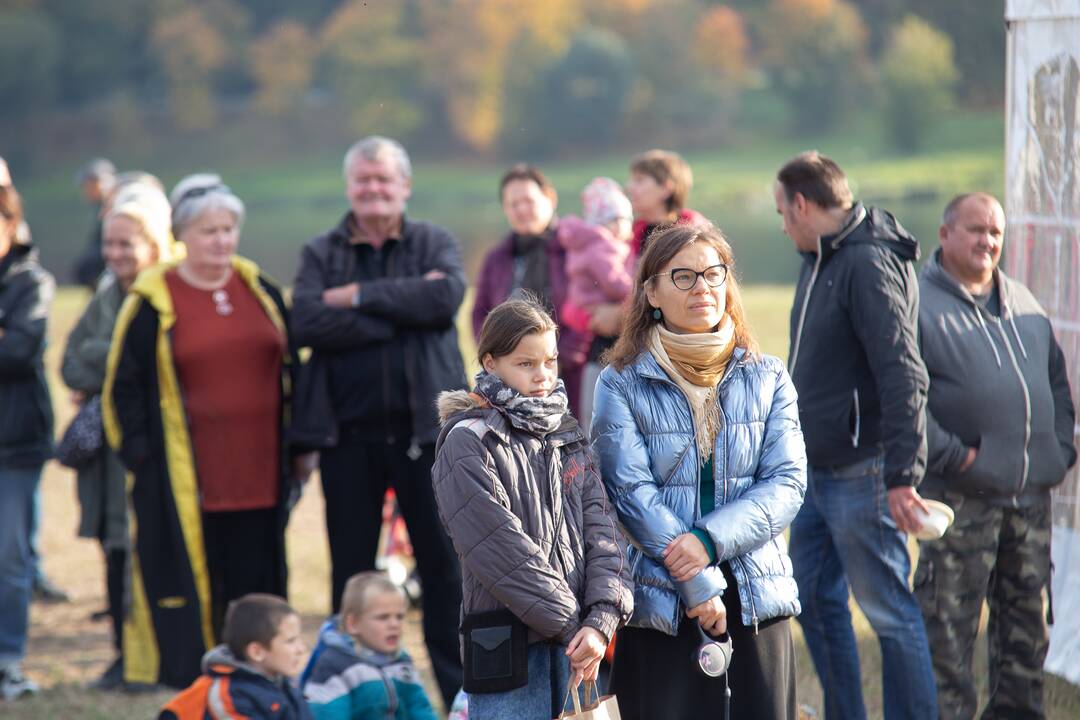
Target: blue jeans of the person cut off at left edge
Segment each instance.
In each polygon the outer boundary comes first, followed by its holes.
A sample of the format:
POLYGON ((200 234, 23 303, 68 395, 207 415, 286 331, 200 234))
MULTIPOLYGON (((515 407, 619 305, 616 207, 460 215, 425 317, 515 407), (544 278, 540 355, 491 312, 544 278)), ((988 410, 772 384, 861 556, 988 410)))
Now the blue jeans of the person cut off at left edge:
POLYGON ((30 524, 41 465, 0 467, 0 665, 26 652, 32 562, 30 524))

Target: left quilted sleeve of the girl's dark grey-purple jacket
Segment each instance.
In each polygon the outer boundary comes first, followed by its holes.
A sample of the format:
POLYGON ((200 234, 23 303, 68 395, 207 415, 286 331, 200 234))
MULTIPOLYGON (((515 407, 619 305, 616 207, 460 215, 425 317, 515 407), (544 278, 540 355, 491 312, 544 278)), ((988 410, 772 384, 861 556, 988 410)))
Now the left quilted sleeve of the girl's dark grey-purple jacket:
POLYGON ((577 598, 511 512, 481 437, 464 423, 451 430, 431 474, 440 517, 469 573, 541 637, 569 642, 577 598))

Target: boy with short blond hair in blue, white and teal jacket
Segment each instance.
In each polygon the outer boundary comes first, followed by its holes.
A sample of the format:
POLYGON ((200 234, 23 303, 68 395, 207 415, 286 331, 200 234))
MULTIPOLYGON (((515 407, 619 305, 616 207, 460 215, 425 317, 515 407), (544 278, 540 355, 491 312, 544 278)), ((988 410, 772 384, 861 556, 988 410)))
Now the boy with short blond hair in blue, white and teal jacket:
POLYGON ((402 650, 405 594, 380 572, 348 580, 341 613, 319 630, 300 679, 318 720, 435 720, 413 660, 402 650))

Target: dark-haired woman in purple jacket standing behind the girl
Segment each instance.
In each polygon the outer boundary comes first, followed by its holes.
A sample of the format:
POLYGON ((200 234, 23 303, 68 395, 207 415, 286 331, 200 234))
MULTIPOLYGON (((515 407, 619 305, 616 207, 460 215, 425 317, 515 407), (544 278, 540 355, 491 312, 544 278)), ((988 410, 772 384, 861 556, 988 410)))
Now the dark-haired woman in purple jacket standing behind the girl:
POLYGON ((518 163, 499 180, 499 200, 510 232, 484 256, 473 299, 473 336, 491 309, 523 291, 540 299, 559 324, 558 375, 577 415, 581 367, 589 337, 559 317, 567 299, 566 250, 556 239, 558 195, 540 168, 518 163))

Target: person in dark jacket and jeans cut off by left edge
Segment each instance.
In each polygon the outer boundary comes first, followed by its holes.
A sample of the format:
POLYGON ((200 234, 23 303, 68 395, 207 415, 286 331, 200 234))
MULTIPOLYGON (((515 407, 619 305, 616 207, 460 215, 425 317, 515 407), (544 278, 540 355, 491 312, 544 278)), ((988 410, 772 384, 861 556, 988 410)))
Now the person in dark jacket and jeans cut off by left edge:
POLYGON ((55 282, 19 241, 23 203, 0 186, 0 698, 37 692, 23 675, 33 565, 30 533, 41 467, 53 452, 45 323, 55 282))

